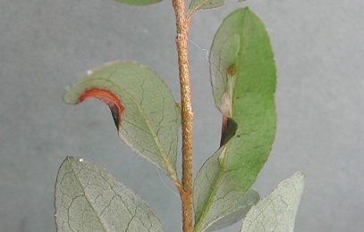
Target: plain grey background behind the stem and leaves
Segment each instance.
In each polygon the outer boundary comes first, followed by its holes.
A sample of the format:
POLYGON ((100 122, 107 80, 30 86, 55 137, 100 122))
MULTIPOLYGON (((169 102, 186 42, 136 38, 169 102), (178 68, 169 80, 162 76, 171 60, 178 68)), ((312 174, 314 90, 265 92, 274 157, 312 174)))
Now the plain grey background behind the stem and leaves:
MULTIPOLYGON (((254 0, 275 50, 278 131, 259 174, 262 195, 303 170, 295 231, 364 228, 364 1, 254 0)), ((208 49, 234 1, 197 12, 190 40, 208 49)), ((115 59, 156 70, 179 100, 170 0, 144 7, 111 0, 0 1, 0 231, 55 231, 53 193, 66 155, 87 158, 131 187, 181 231, 180 202, 165 176, 116 136, 108 108, 63 104, 66 86, 115 59)), ((206 53, 190 43, 194 171, 219 143, 206 53)), ((224 231, 239 231, 240 223, 224 231)))

